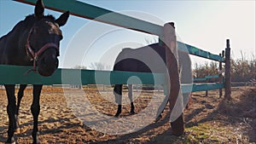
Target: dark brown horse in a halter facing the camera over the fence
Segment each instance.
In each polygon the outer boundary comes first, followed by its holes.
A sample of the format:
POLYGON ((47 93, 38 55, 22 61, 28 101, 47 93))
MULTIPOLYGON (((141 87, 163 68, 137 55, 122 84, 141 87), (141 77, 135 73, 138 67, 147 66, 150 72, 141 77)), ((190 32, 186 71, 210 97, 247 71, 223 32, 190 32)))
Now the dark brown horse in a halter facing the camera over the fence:
MULTIPOLYGON (((16 66, 33 66, 33 72, 42 76, 52 75, 59 65, 59 47, 62 39, 60 26, 67 22, 69 12, 55 20, 52 15, 44 15, 44 3, 38 0, 34 14, 26 16, 11 32, 0 39, 0 64, 16 66)), ((30 72, 29 71, 29 72, 30 72)), ((7 143, 14 143, 15 129, 19 128, 18 114, 20 101, 25 84, 20 84, 18 103, 15 100, 15 84, 4 85, 8 98, 7 112, 9 130, 7 143)), ((33 143, 38 143, 38 115, 40 112, 41 84, 33 85, 33 101, 31 112, 33 116, 33 143)))

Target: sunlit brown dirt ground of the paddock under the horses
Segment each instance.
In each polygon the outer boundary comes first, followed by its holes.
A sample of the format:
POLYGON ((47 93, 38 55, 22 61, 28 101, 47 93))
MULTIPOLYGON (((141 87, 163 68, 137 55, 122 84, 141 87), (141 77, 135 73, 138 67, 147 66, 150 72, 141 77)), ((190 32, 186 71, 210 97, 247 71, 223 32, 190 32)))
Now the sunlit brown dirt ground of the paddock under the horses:
MULTIPOLYGON (((79 89, 68 89, 69 91, 79 89)), ((148 124, 142 130, 128 134, 109 135, 89 127, 79 120, 78 113, 73 112, 70 97, 64 96, 65 90, 45 86, 41 95, 38 129, 41 143, 255 143, 256 142, 256 87, 232 89, 232 100, 218 97, 218 90, 193 93, 189 109, 184 111, 185 135, 171 136, 168 108, 166 107, 160 121, 148 124)), ((96 91, 84 88, 90 105, 103 115, 112 117, 117 109, 113 103, 110 89, 96 91), (107 92, 106 92, 107 91, 107 92), (104 95, 103 95, 104 94, 104 95), (106 99, 106 97, 108 97, 106 99)), ((67 91, 66 91, 67 93, 67 91)), ((126 95, 126 93, 125 93, 126 95)), ((154 95, 163 95, 161 91, 142 91, 135 101, 137 113, 148 107, 154 95), (153 94, 154 93, 154 94, 153 94)), ((124 99, 127 96, 124 96, 124 99)), ((73 97, 72 99, 79 99, 73 97)), ((125 100, 127 101, 127 100, 125 100)), ((15 133, 17 143, 32 143, 32 89, 26 89, 20 107, 20 130, 15 133)), ((0 143, 7 139, 8 117, 7 98, 0 88, 0 143)), ((85 107, 86 108, 86 107, 85 107)), ((88 108, 88 107, 87 107, 88 108)), ((86 110, 87 111, 87 110, 86 110)), ((124 105, 121 118, 129 118, 130 105, 124 105)), ((81 113, 80 113, 81 114, 81 113)), ((147 114, 147 113, 146 113, 147 114)), ((86 117, 86 115, 84 115, 86 117)), ((136 121, 136 119, 135 119, 136 121)), ((145 119, 147 121, 147 119, 145 119)), ((125 121, 119 121, 116 127, 108 130, 129 128, 125 121)), ((138 123, 138 122, 137 122, 138 123)), ((127 131, 126 131, 127 132, 127 131)))

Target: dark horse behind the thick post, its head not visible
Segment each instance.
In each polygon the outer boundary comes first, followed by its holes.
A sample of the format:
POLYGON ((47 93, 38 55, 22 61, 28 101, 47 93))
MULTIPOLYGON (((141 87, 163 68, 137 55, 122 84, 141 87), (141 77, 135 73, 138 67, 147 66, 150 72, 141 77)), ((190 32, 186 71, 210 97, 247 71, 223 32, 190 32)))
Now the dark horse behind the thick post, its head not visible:
MULTIPOLYGON (((183 47, 183 45, 181 45, 183 47)), ((185 48, 183 48, 185 49, 185 48)), ((168 53, 171 53, 170 49, 167 49, 168 53)), ((177 50, 178 63, 180 68, 181 83, 191 84, 191 61, 189 54, 182 50, 177 50)), ((113 66, 113 71, 128 71, 128 72, 166 72, 166 49, 161 47, 159 43, 150 44, 138 49, 123 49, 113 66)), ((128 96, 131 101, 131 114, 134 114, 134 104, 132 100, 132 85, 128 85, 128 96)), ((115 117, 118 117, 121 113, 122 107, 122 84, 116 84, 113 89, 116 102, 118 103, 118 110, 115 117)), ((189 94, 183 94, 183 101, 186 104, 189 101, 189 94)), ((161 105, 161 109, 166 106, 166 103, 161 105)), ((159 109, 159 114, 162 111, 159 109)))

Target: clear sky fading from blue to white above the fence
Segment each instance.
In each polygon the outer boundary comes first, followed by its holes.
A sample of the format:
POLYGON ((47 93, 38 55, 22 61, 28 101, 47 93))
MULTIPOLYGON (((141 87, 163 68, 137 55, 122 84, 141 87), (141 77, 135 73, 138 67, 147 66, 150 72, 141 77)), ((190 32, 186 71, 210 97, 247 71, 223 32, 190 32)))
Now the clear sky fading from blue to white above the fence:
MULTIPOLYGON (((231 57, 235 59, 241 58, 242 51, 247 56, 247 59, 252 59, 253 55, 255 59, 255 1, 81 1, 105 9, 131 14, 159 25, 174 21, 180 41, 217 55, 225 48, 226 39, 230 38, 231 57)), ((33 9, 33 6, 24 3, 1 0, 0 37, 9 32, 17 22, 24 20, 27 14, 32 14, 33 9)), ((60 13, 51 10, 46 10, 45 14, 53 14, 55 17, 60 15, 60 13)), ((89 32, 93 31, 86 31, 88 27, 90 28, 90 25, 90 20, 71 16, 67 25, 61 28, 64 35, 64 39, 61 41, 61 66, 89 66, 90 63, 99 61, 100 59, 101 61, 107 60, 104 54, 110 52, 106 48, 101 48, 101 44, 99 43, 104 44, 104 47, 109 48, 111 46, 113 49, 116 49, 116 47, 127 46, 127 44, 123 43, 132 42, 130 45, 135 48, 145 45, 145 38, 152 38, 147 35, 138 34, 137 32, 127 32, 119 28, 96 24, 108 27, 109 29, 113 28, 113 35, 108 34, 108 36, 104 35, 97 38, 92 45, 79 43, 79 45, 70 48, 73 45, 73 37, 78 37, 81 32, 84 32, 84 38, 85 36, 90 36, 89 32), (126 37, 125 34, 129 34, 130 37, 126 37), (120 36, 125 37, 126 41, 120 36), (123 43, 119 43, 118 40, 121 40, 123 43), (90 45, 90 49, 86 48, 86 45, 90 45), (79 46, 82 49, 76 48, 79 46), (64 55, 67 54, 67 49, 73 49, 73 51, 79 52, 84 49, 86 52, 80 52, 83 55, 80 55, 81 58, 79 60, 76 60, 79 55, 75 56, 73 60, 68 60, 69 63, 65 65, 63 61, 66 59, 64 55)), ((81 40, 85 42, 85 40, 81 40)), ((113 51, 113 49, 110 51, 113 51)), ((110 59, 113 61, 115 58, 110 59)), ((205 59, 196 59, 194 56, 191 59, 193 62, 205 61, 205 59)))

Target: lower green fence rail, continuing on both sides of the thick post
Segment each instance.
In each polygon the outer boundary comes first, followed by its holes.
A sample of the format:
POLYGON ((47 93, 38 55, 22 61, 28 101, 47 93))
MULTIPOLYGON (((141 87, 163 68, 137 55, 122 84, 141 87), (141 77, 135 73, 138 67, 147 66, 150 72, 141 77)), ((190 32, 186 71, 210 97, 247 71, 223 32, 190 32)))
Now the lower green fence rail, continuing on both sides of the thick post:
MULTIPOLYGON (((0 65, 0 84, 164 84, 164 73, 57 69, 52 76, 30 72, 32 66, 0 65)), ((192 91, 224 88, 224 84, 193 84, 192 91)), ((183 93, 191 92, 191 84, 182 84, 183 93)))

